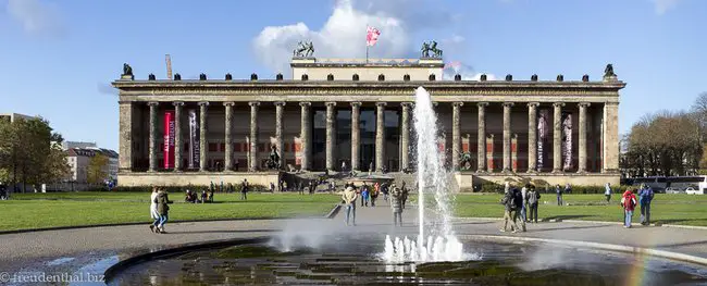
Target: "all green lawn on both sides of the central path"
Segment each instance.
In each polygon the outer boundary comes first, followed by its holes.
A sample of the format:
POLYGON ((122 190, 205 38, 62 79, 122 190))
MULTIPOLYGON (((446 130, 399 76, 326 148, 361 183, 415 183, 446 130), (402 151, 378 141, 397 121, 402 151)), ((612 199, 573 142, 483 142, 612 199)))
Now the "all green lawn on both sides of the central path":
MULTIPOLYGON (((13 194, 12 200, 0 201, 0 232, 58 226, 83 226, 113 223, 147 223, 147 192, 49 192, 13 194)), ((215 194, 215 203, 183 203, 183 194, 171 194, 174 204, 171 221, 223 219, 277 219, 320 216, 339 202, 337 195, 215 194)), ((503 217, 500 195, 459 195, 455 214, 463 217, 503 217)), ((411 196, 414 201, 415 196, 411 196)), ((565 195, 570 206, 558 207, 553 194, 543 194, 538 208, 541 219, 621 222, 620 196, 606 204, 604 195, 565 195)), ((427 200, 431 202, 431 200, 427 200)), ((640 211, 636 208, 634 219, 640 211)), ((707 226, 707 196, 656 194, 652 204, 652 221, 666 224, 707 226)))

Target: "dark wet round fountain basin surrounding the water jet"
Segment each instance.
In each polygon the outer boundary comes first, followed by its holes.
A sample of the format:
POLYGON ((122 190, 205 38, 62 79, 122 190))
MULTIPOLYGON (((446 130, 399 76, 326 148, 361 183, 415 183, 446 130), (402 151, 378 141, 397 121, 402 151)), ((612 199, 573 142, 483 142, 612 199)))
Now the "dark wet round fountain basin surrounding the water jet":
POLYGON ((456 262, 396 262, 382 258, 380 235, 305 237, 208 248, 135 264, 110 285, 191 284, 460 284, 460 285, 700 285, 707 269, 658 258, 543 243, 462 240, 456 262), (283 247, 287 245, 287 247, 283 247), (633 283, 636 282, 636 283, 633 283))

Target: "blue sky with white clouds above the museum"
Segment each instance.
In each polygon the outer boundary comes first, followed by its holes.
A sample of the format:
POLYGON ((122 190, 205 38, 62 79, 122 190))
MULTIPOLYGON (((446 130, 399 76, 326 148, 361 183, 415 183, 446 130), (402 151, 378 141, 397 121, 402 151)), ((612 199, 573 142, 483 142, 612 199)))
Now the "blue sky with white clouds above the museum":
POLYGON ((627 133, 707 91, 705 12, 703 0, 0 0, 0 113, 41 115, 66 140, 117 150, 110 83, 123 63, 136 78, 164 78, 169 53, 185 79, 274 78, 298 40, 312 40, 315 57, 363 58, 371 25, 381 32, 371 58, 415 58, 436 40, 468 79, 598 80, 612 63, 628 84, 627 133))

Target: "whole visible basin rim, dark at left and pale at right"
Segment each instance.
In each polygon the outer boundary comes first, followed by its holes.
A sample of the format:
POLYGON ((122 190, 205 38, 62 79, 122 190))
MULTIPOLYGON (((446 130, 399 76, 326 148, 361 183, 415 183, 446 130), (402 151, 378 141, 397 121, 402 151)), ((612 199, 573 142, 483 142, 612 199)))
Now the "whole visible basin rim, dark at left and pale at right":
MULTIPOLYGON (((673 261, 687 262, 687 263, 707 266, 707 258, 672 252, 667 250, 648 249, 648 248, 633 247, 633 246, 590 243, 590 241, 581 241, 581 240, 565 240, 565 239, 518 237, 518 236, 503 236, 503 235, 458 235, 457 237, 461 240, 479 240, 479 241, 491 241, 491 243, 499 243, 499 240, 504 240, 504 243, 556 244, 556 245, 571 246, 571 247, 578 247, 584 249, 598 249, 598 250, 607 250, 612 252, 631 253, 634 256, 646 254, 646 256, 663 258, 673 261)), ((208 241, 200 241, 194 244, 186 244, 178 247, 165 248, 157 251, 148 251, 145 253, 129 257, 109 266, 103 273, 103 275, 106 278, 106 283, 109 283, 120 272, 126 270, 127 268, 140 263, 145 263, 148 261, 170 258, 186 252, 204 250, 209 248, 222 248, 222 247, 232 247, 232 246, 248 245, 248 244, 263 244, 270 241, 271 238, 272 236, 260 236, 253 238, 208 240, 208 241)))

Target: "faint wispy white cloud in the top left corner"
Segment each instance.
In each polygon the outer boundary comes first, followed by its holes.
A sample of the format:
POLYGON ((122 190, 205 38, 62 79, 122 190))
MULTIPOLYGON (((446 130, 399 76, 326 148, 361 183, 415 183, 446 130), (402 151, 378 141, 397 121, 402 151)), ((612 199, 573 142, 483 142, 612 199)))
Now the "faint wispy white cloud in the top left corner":
POLYGON ((58 7, 40 0, 8 0, 8 13, 34 35, 62 36, 64 22, 58 7))

